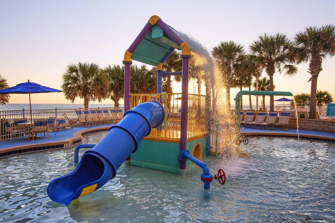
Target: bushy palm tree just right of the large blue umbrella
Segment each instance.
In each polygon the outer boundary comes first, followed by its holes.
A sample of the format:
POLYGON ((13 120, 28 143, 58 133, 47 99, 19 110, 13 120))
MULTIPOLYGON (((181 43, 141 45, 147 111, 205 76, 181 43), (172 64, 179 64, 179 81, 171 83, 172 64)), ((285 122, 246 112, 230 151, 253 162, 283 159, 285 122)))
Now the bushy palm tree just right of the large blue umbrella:
POLYGON ((95 63, 69 64, 62 79, 61 87, 65 98, 72 103, 76 97, 83 98, 85 108, 89 101, 101 102, 109 96, 108 75, 95 63))

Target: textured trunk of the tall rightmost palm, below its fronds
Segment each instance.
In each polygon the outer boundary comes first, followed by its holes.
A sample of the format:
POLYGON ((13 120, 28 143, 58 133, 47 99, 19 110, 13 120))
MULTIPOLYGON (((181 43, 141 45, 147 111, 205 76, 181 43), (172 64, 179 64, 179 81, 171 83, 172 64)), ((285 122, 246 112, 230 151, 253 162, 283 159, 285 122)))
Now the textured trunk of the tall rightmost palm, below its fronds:
POLYGON ((317 91, 318 75, 322 71, 322 58, 320 57, 320 55, 312 55, 308 70, 309 73, 312 75, 309 119, 316 119, 316 103, 317 103, 316 91, 317 91))

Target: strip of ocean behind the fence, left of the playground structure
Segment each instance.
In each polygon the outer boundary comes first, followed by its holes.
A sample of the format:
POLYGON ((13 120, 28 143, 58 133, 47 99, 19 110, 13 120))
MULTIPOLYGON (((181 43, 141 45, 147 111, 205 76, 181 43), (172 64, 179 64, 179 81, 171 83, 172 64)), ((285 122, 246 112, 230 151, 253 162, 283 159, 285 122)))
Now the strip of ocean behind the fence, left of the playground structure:
MULTIPOLYGON (((83 108, 83 104, 31 104, 31 109, 55 109, 55 108, 83 108)), ((88 104, 88 107, 114 107, 114 104, 88 104)), ((123 107, 123 104, 120 104, 120 107, 123 107)), ((8 103, 5 105, 0 105, 0 110, 20 110, 28 109, 29 104, 13 104, 8 103)))

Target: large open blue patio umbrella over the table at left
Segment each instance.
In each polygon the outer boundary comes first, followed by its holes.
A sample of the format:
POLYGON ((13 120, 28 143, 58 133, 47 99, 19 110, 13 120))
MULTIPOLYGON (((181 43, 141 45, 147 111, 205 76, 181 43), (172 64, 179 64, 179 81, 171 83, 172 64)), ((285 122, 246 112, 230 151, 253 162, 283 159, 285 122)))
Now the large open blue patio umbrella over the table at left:
POLYGON ((30 122, 32 122, 30 94, 49 93, 49 92, 62 92, 62 91, 50 87, 45 87, 42 86, 41 84, 30 82, 29 80, 28 82, 20 83, 17 84, 16 86, 0 90, 0 94, 29 94, 30 122))

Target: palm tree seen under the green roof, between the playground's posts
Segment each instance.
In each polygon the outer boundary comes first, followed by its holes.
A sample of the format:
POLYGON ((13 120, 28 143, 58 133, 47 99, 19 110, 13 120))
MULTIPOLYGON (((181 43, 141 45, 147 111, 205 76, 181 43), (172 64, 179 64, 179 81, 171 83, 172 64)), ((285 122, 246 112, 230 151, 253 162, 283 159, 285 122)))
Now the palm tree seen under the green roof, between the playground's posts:
MULTIPOLYGON (((180 52, 175 50, 172 54, 167 58, 167 60, 163 63, 163 69, 167 72, 176 72, 182 70, 182 60, 180 58, 180 52)), ((181 76, 175 76, 175 79, 181 80, 181 76)), ((172 93, 171 87, 171 76, 166 77, 166 84, 165 84, 165 92, 172 93)))

